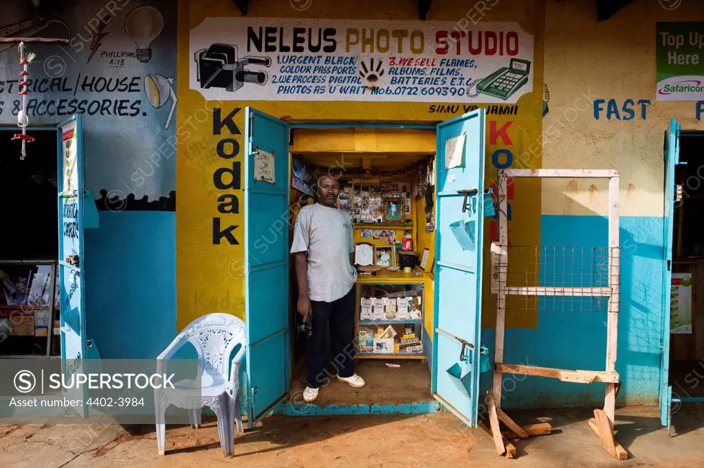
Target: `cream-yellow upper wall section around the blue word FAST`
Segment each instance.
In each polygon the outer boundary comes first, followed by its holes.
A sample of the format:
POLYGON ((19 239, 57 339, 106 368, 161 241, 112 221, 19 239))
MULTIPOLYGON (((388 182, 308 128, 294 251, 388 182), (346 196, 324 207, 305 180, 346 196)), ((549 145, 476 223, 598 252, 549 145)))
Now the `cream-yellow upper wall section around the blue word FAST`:
MULTIPOLYGON (((703 21, 704 4, 633 2, 596 22, 592 2, 549 1, 546 17, 543 167, 617 169, 622 216, 662 216, 664 131, 672 117, 683 130, 704 130, 704 121, 696 120, 694 102, 655 100, 655 22, 703 21), (645 120, 639 105, 634 119, 608 120, 602 112, 597 120, 592 103, 600 98, 615 98, 620 112, 629 98, 651 104, 645 120)), ((543 181, 542 190, 543 214, 607 214, 603 181, 543 181)))

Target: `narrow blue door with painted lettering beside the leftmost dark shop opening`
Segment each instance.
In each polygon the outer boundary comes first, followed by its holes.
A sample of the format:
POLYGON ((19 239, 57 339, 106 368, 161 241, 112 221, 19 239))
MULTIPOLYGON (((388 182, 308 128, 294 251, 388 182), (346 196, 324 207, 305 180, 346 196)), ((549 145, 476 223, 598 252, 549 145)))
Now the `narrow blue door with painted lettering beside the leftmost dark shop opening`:
MULTIPOLYGON (((61 304, 61 359, 68 377, 83 368, 86 356, 84 278, 84 200, 82 117, 61 122, 58 134, 58 284, 61 304)), ((84 401, 87 389, 67 389, 66 398, 84 401)), ((87 416, 86 405, 77 412, 87 416)))

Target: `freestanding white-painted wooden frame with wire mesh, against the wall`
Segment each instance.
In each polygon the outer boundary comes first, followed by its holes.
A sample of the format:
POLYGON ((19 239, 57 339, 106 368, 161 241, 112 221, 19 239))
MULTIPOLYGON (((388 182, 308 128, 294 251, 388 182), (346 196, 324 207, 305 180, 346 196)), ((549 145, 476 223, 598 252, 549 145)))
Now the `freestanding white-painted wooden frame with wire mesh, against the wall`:
POLYGON ((618 313, 620 285, 619 252, 619 174, 609 169, 500 169, 498 171, 498 243, 491 243, 491 292, 496 299, 496 348, 494 351, 493 399, 497 410, 501 409, 501 384, 503 373, 553 377, 563 382, 605 382, 604 412, 613 429, 617 385, 616 351, 618 344, 618 313), (508 275, 508 178, 608 178, 608 287, 506 287, 508 275), (528 365, 503 363, 503 341, 505 333, 506 296, 582 296, 608 297, 608 319, 606 340, 606 370, 563 370, 537 368, 528 365))

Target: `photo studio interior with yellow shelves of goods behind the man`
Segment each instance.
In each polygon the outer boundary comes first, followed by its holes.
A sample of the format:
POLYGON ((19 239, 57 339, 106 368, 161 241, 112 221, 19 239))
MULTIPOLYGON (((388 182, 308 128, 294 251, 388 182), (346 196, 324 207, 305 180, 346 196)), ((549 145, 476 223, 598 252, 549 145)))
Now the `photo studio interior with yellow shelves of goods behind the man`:
MULTIPOLYGON (((338 178, 339 209, 353 223, 356 372, 366 386, 337 382, 334 364, 316 405, 404 404, 432 400, 434 155, 424 129, 293 129, 289 245, 298 211, 315 203, 318 177, 338 178)), ((305 337, 298 332, 298 288, 291 262, 294 331, 291 393, 306 387, 305 337)), ((329 356, 331 361, 333 356, 329 356)))

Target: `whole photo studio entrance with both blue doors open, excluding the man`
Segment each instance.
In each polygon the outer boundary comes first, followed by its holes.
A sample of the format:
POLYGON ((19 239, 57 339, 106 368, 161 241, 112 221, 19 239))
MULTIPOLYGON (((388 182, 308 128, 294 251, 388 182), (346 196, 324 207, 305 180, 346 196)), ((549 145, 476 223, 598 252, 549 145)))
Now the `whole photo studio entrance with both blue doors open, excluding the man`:
POLYGON ((442 404, 476 426, 484 111, 437 125, 288 124, 246 113, 251 420, 274 408, 332 415, 442 404), (337 382, 330 356, 332 378, 308 404, 289 230, 324 173, 340 181, 337 204, 353 224, 360 275, 349 349, 367 385, 337 382), (277 228, 282 220, 289 230, 277 228))

